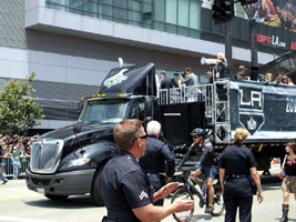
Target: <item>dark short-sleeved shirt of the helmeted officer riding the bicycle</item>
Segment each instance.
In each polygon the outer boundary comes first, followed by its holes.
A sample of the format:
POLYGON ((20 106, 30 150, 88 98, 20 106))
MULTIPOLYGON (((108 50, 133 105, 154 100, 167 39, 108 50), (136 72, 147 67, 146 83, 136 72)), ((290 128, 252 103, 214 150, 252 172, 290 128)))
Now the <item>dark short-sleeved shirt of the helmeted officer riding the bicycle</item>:
POLYGON ((213 144, 208 140, 205 140, 202 145, 193 143, 190 147, 188 152, 185 154, 185 157, 181 160, 178 164, 183 165, 183 163, 186 160, 188 160, 188 158, 192 155, 196 155, 198 158, 200 164, 202 165, 214 164, 214 159, 215 159, 214 148, 213 148, 213 144))

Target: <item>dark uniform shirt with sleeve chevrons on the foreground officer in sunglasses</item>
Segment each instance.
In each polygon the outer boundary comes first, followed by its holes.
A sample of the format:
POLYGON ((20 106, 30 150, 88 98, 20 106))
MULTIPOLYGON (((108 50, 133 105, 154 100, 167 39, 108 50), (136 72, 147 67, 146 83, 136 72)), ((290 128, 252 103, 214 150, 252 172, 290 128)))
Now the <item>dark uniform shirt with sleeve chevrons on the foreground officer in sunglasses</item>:
POLYGON ((102 172, 104 203, 109 219, 118 222, 140 221, 132 209, 153 202, 153 191, 137 160, 127 151, 120 151, 102 172))

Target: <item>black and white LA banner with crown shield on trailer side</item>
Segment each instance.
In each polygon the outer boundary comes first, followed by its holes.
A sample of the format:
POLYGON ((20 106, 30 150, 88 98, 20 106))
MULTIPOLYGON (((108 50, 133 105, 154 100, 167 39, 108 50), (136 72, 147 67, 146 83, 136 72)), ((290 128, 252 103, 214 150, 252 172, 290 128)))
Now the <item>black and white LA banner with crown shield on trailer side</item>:
POLYGON ((296 87, 254 81, 229 81, 232 139, 237 127, 247 140, 296 139, 296 87))

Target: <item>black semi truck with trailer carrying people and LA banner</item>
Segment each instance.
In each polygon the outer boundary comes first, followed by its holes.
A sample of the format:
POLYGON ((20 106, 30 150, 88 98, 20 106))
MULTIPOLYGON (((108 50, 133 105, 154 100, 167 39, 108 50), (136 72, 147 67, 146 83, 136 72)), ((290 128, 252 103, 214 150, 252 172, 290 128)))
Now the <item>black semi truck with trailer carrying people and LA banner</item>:
POLYGON ((145 125, 162 123, 170 148, 182 157, 192 143, 190 132, 203 128, 217 151, 225 149, 237 127, 248 130, 246 144, 259 168, 282 158, 296 138, 296 88, 256 81, 222 79, 212 84, 157 90, 155 67, 130 65, 110 71, 98 93, 82 98, 78 122, 34 141, 27 186, 52 200, 90 193, 103 204, 100 176, 118 152, 112 131, 124 119, 145 125))

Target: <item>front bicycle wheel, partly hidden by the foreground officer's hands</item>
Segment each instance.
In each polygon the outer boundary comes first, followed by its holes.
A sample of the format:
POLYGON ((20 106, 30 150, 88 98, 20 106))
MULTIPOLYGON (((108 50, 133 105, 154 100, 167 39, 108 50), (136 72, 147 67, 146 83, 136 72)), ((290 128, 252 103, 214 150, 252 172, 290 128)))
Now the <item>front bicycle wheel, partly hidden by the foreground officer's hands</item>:
MULTIPOLYGON (((191 200, 194 201, 193 195, 192 195, 191 192, 188 192, 185 188, 180 188, 180 189, 177 189, 175 191, 175 193, 174 193, 174 195, 172 198, 171 203, 173 203, 176 199, 182 198, 184 195, 188 195, 187 199, 191 199, 191 200)), ((194 212, 194 206, 190 211, 173 213, 173 216, 174 216, 174 219, 176 221, 186 222, 186 221, 188 221, 192 218, 193 212, 194 212)))

